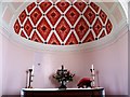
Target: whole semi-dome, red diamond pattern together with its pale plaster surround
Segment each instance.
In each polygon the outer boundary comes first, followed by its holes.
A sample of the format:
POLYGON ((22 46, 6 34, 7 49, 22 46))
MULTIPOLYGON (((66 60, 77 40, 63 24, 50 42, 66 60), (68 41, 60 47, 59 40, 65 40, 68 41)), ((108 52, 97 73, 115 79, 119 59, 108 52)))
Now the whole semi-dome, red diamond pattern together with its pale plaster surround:
POLYGON ((92 50, 125 32, 125 3, 87 1, 2 2, 0 29, 13 42, 49 51, 92 50))

